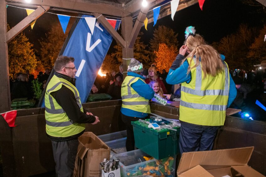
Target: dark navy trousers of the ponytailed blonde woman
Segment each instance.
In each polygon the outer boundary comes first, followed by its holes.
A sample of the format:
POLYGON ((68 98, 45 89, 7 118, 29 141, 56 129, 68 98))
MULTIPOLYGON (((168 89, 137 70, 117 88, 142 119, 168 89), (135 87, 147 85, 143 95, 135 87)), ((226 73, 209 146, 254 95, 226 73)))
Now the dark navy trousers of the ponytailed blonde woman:
POLYGON ((192 151, 212 150, 217 130, 220 126, 200 126, 181 122, 180 154, 192 151))

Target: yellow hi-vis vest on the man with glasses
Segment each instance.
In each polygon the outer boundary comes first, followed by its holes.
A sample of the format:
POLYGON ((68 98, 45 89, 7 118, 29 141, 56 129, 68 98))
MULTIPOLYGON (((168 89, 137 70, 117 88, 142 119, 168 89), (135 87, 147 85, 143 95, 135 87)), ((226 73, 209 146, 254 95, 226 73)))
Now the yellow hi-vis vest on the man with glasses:
POLYGON ((68 118, 65 110, 62 109, 51 95, 52 92, 61 89, 62 85, 66 86, 74 93, 80 111, 83 112, 79 91, 76 87, 67 80, 58 78, 54 75, 48 83, 45 92, 46 133, 52 137, 69 137, 85 130, 85 124, 73 123, 73 121, 68 118))

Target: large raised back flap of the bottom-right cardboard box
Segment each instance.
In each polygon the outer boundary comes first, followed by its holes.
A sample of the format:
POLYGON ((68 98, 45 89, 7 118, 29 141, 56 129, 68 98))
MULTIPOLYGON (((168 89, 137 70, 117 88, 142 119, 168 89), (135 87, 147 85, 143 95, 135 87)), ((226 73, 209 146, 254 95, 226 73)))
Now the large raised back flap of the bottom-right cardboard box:
POLYGON ((183 153, 178 165, 177 174, 181 174, 197 165, 212 165, 213 169, 234 165, 247 165, 254 147, 197 151, 183 153))

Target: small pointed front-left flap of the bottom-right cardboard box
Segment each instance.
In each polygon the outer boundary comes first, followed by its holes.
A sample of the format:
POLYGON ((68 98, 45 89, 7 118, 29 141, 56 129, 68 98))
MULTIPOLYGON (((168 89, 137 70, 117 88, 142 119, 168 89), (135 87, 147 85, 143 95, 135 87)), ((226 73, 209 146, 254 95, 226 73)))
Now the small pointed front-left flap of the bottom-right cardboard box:
POLYGON ((197 165, 196 167, 190 170, 187 170, 186 172, 182 174, 178 174, 178 177, 214 177, 214 176, 211 175, 208 171, 206 171, 200 165, 197 165))

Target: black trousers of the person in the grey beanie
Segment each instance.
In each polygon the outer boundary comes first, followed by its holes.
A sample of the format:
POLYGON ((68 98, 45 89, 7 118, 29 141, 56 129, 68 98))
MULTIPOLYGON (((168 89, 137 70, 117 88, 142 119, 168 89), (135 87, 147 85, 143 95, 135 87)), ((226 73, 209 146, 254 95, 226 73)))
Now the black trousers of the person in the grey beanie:
POLYGON ((127 141, 126 141, 127 151, 133 151, 135 149, 135 139, 134 139, 134 132, 133 132, 133 126, 131 125, 131 121, 138 121, 139 119, 145 119, 145 118, 130 117, 122 114, 122 121, 126 124, 127 128, 127 141))

